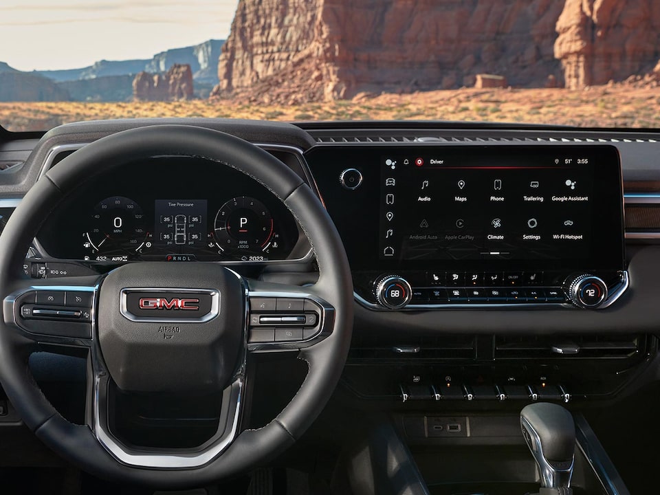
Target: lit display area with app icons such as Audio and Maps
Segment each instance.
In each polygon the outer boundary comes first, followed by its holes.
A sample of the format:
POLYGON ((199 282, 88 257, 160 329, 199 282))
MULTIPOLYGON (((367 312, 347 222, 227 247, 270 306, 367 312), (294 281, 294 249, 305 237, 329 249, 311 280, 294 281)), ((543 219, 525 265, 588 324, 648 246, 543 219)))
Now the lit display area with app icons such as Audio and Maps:
MULTIPOLYGON (((602 162, 582 153, 468 147, 380 159, 381 259, 586 259, 602 162)), ((615 181, 612 188, 618 187, 615 181)), ((615 217, 611 219, 617 221, 615 217)))

